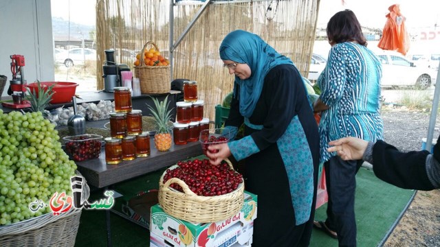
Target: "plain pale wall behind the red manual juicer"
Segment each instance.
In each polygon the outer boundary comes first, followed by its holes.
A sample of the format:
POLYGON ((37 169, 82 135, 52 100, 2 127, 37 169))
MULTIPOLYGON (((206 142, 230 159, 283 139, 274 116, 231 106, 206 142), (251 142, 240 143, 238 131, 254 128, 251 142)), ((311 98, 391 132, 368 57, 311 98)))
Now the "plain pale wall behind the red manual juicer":
POLYGON ((25 57, 23 75, 28 83, 54 80, 54 55, 50 0, 0 1, 0 75, 6 75, 7 95, 10 56, 25 57))

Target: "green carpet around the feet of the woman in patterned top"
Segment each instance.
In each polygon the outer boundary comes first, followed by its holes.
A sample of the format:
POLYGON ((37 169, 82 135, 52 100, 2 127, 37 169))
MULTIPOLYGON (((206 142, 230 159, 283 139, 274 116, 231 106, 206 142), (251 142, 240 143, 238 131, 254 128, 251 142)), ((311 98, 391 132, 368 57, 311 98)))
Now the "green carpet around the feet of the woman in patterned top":
MULTIPOLYGON (((356 176, 355 214, 358 227, 358 246, 377 246, 415 193, 400 189, 377 178, 373 171, 361 168, 356 176)), ((316 211, 316 220, 325 220, 327 204, 316 211)), ((338 246, 322 231, 314 229, 310 246, 338 246)))

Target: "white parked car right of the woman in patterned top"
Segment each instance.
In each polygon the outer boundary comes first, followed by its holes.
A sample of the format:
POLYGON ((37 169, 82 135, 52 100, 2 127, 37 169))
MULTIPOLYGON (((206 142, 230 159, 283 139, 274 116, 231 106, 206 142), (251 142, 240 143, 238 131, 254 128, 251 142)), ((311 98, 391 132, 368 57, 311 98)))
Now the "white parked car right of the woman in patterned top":
POLYGON ((436 73, 427 67, 417 67, 401 54, 394 51, 376 53, 382 62, 382 86, 415 86, 427 89, 435 82, 436 73))

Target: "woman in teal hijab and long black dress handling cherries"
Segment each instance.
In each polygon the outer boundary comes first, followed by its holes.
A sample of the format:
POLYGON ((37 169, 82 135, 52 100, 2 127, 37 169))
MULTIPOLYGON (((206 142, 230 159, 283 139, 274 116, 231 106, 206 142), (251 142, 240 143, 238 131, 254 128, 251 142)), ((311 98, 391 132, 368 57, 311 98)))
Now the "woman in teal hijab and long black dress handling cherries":
POLYGON ((207 156, 213 165, 245 159, 245 189, 258 196, 252 246, 307 246, 319 140, 303 79, 292 60, 250 32, 231 32, 219 52, 235 77, 225 128, 234 137, 244 123, 245 137, 212 145, 219 152, 207 156))

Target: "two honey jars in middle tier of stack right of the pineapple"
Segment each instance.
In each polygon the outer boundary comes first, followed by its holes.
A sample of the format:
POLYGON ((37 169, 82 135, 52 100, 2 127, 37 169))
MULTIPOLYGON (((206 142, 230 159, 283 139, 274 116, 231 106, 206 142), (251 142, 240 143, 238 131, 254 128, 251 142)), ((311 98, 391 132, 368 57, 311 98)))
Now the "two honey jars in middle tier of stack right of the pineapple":
POLYGON ((201 121, 203 119, 203 100, 196 102, 176 102, 179 124, 189 124, 190 121, 201 121))

